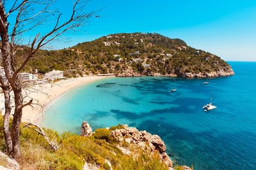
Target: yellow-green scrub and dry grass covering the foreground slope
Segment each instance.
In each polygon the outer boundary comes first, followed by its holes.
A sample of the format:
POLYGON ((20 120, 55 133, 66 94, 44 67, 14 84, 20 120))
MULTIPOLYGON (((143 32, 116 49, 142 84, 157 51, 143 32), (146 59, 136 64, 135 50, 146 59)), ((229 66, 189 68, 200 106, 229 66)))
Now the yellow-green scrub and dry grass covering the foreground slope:
MULTIPOLYGON (((3 129, 2 117, 0 127, 3 129)), ((18 160, 22 169, 82 169, 85 162, 109 169, 106 159, 113 169, 168 169, 159 161, 157 153, 138 152, 136 157, 124 155, 115 143, 107 142, 111 141, 108 129, 97 129, 90 138, 68 132, 60 135, 51 129, 45 129, 45 133, 60 143, 58 150, 52 150, 42 135, 22 124, 22 157, 18 160)), ((0 150, 6 152, 3 131, 0 131, 0 137, 0 150)))

